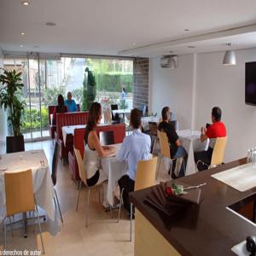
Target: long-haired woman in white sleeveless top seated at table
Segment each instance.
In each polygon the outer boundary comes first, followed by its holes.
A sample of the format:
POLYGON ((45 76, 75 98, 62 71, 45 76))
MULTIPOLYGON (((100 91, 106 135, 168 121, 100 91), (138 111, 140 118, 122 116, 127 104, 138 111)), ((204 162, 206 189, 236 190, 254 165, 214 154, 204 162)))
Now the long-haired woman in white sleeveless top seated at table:
POLYGON ((89 116, 84 134, 84 165, 86 170, 87 185, 94 186, 102 183, 108 177, 99 165, 99 157, 106 157, 114 153, 113 147, 102 146, 96 134, 96 126, 102 119, 102 107, 98 102, 90 106, 89 116))

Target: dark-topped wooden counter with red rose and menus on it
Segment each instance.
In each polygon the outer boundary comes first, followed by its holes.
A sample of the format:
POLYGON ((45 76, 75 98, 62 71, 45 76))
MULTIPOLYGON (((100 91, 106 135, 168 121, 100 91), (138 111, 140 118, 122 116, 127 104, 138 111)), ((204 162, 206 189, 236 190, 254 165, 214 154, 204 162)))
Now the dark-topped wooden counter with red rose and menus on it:
POLYGON ((246 203, 243 207, 246 207, 247 203, 254 201, 254 194, 256 198, 256 188, 241 193, 219 182, 211 175, 245 163, 246 159, 236 160, 211 170, 180 178, 180 181, 189 185, 200 183, 207 183, 207 185, 202 188, 204 200, 201 201, 199 207, 190 207, 186 212, 178 213, 172 218, 166 217, 144 203, 145 195, 150 188, 132 192, 131 202, 137 208, 135 255, 143 255, 143 252, 147 252, 147 256, 154 255, 154 249, 156 252, 162 252, 158 255, 235 255, 230 248, 245 240, 249 235, 256 236, 256 226, 226 207, 235 205, 237 208, 237 205, 240 205, 237 202, 251 195, 250 201, 244 201, 246 203), (147 227, 143 229, 142 225, 147 227), (144 237, 143 230, 147 230, 144 237), (152 234, 151 238, 150 234, 152 234), (143 240, 145 241, 144 248, 148 249, 146 251, 141 250, 143 240))

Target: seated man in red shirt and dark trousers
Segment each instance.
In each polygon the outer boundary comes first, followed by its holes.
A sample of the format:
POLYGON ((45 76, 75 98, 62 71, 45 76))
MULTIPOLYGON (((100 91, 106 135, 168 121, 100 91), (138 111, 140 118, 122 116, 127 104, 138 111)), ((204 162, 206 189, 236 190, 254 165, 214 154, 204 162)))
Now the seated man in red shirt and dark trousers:
POLYGON ((197 168, 198 171, 203 171, 208 168, 208 166, 211 165, 212 160, 212 151, 214 148, 214 144, 216 142, 217 137, 226 137, 226 127, 221 120, 221 109, 218 107, 212 108, 212 125, 209 125, 206 127, 201 127, 201 142, 204 142, 207 140, 207 138, 210 139, 209 147, 207 151, 200 151, 195 152, 194 158, 195 163, 197 163, 198 160, 203 161, 207 165, 203 165, 201 162, 198 164, 197 168))

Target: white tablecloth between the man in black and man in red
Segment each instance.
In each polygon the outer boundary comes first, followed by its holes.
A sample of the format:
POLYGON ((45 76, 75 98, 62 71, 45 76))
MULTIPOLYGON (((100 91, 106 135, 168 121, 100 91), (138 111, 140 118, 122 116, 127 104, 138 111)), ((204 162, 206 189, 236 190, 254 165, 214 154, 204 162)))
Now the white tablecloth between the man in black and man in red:
POLYGON ((185 148, 188 153, 188 161, 185 175, 187 176, 195 172, 198 172, 195 166, 194 152, 207 150, 209 141, 207 140, 204 143, 201 143, 200 131, 181 130, 177 131, 177 135, 181 143, 183 144, 183 148, 185 148))

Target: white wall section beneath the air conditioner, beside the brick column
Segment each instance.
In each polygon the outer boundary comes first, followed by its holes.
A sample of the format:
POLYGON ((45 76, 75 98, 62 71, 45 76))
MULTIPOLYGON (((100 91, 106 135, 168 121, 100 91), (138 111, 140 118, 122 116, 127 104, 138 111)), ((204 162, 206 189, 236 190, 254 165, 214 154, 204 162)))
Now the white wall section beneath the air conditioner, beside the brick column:
POLYGON ((177 69, 161 68, 160 58, 150 59, 149 111, 161 115, 169 106, 177 115, 179 129, 191 127, 193 55, 178 57, 177 69))

